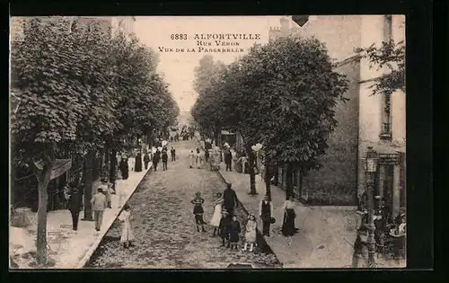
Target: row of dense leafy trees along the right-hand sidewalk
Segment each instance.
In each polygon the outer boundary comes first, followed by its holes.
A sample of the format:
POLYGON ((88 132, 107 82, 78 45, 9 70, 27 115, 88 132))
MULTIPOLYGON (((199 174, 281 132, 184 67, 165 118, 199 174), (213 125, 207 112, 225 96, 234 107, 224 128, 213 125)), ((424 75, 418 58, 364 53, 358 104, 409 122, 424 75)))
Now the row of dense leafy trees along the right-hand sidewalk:
POLYGON ((204 57, 196 73, 192 115, 209 133, 226 128, 241 134, 251 193, 256 192, 251 146, 258 143, 265 155, 268 195, 270 164, 286 165, 287 197, 293 193, 294 166, 301 175, 321 168, 319 157, 337 127, 334 107, 347 101, 348 83, 333 71, 319 40, 278 39, 253 47, 228 66, 204 57))

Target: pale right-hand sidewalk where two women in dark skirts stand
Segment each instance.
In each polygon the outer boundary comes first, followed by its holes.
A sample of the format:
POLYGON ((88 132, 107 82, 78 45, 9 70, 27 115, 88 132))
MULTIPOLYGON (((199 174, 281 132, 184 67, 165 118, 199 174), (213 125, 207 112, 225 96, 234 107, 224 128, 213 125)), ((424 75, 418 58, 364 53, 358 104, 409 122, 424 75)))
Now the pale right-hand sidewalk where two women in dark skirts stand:
MULTIPOLYGON (((233 184, 238 199, 248 212, 259 215, 259 205, 265 195, 265 183, 256 175, 258 195, 250 195, 250 175, 238 172, 226 172, 221 164, 219 173, 225 181, 233 184)), ((271 234, 266 237, 271 250, 283 263, 283 268, 351 268, 353 243, 356 240, 357 215, 355 207, 306 207, 296 202, 295 227, 299 233, 286 240, 281 234, 284 212, 282 206, 286 200, 284 190, 271 185, 271 199, 276 223, 271 226, 271 234), (290 242, 290 244, 289 244, 290 242)), ((258 227, 262 223, 258 217, 258 227)), ((384 267, 404 267, 405 262, 376 260, 384 267)))

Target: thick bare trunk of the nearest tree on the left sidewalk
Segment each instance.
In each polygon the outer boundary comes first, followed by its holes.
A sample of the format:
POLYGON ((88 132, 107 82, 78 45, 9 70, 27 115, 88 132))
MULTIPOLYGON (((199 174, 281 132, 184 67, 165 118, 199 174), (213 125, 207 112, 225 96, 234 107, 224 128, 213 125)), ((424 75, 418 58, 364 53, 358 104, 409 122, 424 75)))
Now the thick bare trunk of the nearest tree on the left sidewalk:
POLYGON ((52 166, 45 166, 40 172, 35 172, 38 178, 39 208, 38 231, 36 248, 38 252, 37 262, 40 265, 47 264, 47 206, 48 206, 48 182, 50 181, 52 166))

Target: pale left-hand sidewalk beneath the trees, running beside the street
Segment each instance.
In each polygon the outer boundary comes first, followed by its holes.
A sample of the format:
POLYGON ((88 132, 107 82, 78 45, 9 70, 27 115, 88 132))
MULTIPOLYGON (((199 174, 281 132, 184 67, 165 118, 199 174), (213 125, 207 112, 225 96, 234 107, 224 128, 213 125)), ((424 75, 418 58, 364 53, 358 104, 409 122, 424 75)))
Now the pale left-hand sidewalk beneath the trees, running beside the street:
MULTIPOLYGON (((129 178, 128 180, 118 180, 116 184, 117 194, 112 195, 112 208, 104 212, 101 231, 94 229, 92 221, 82 221, 84 212, 80 213, 78 230, 72 230, 72 217, 68 210, 56 210, 48 212, 47 222, 47 241, 48 243, 48 268, 51 269, 82 269, 85 262, 92 256, 100 244, 102 237, 114 220, 118 217, 121 208, 119 208, 119 191, 126 191, 122 199, 126 203, 136 190, 138 184, 144 178, 146 172, 134 172, 134 158, 129 158, 129 178)), ((95 182, 94 182, 95 184, 95 182)), ((93 186, 92 190, 96 187, 93 186)), ((31 254, 36 252, 36 228, 37 216, 31 220, 31 226, 26 228, 10 227, 10 255, 19 266, 18 269, 38 268, 31 254)))

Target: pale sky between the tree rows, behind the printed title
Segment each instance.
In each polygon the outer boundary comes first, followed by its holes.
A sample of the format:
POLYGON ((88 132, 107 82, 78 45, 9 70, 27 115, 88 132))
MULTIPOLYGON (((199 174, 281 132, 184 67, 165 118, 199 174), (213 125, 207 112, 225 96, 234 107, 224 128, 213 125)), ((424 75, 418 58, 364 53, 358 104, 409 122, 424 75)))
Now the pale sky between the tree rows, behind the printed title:
MULTIPOLYGON (((206 54, 225 64, 246 54, 254 43, 265 44, 269 40, 269 27, 278 26, 278 16, 152 16, 136 17, 136 36, 146 46, 159 54, 158 71, 163 73, 169 89, 178 102, 181 111, 189 111, 197 93, 193 90, 195 66, 206 54), (260 40, 224 40, 238 42, 244 52, 198 53, 195 34, 207 33, 252 33, 260 34, 260 40), (173 34, 187 34, 187 40, 172 40, 173 34), (196 49, 196 53, 161 52, 159 48, 196 49)), ((215 40, 207 40, 216 45, 215 40)), ((205 48, 218 48, 214 46, 205 48)), ((227 47, 232 48, 232 47, 227 47)))

